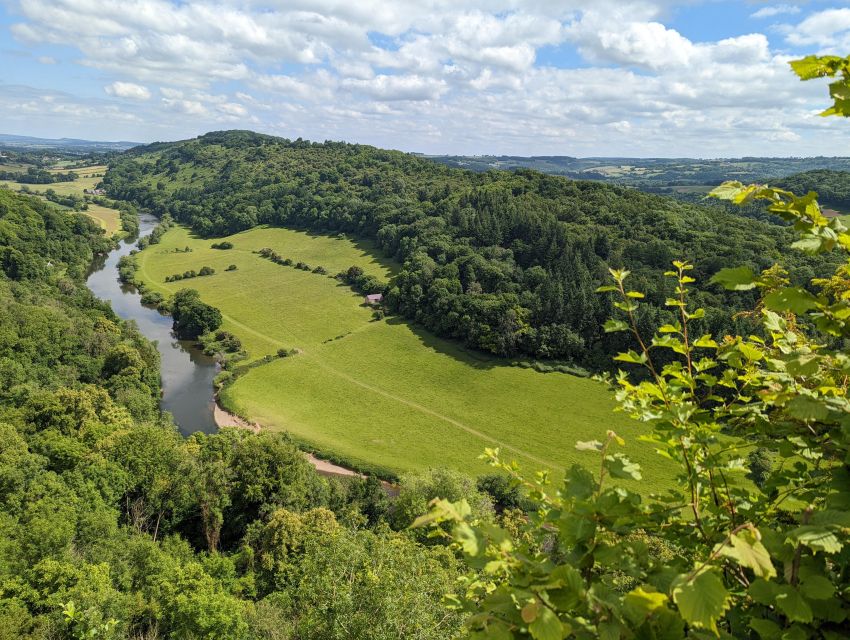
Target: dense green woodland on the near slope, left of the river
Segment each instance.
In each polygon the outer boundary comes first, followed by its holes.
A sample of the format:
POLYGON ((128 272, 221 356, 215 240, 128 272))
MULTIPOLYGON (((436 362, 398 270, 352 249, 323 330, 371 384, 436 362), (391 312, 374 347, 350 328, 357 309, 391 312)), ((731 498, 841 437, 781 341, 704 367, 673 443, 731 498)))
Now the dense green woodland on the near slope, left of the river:
POLYGON ((109 248, 0 189, 0 639, 454 637, 454 554, 395 531, 437 495, 495 518, 515 493, 433 471, 390 502, 281 435, 184 439, 156 349, 85 287, 109 248))

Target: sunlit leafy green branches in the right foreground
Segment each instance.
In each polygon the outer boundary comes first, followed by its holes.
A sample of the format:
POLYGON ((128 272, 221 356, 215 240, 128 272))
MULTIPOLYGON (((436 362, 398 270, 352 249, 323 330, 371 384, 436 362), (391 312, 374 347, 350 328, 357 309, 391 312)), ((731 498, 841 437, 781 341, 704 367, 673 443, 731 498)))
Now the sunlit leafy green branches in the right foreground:
MULTIPOLYGON (((850 60, 797 61, 803 79, 841 74, 850 60)), ((844 87, 844 88, 842 88, 844 87)), ((850 96, 850 94, 848 94, 850 96)), ((850 234, 826 218, 817 195, 730 182, 712 194, 738 204, 764 201, 793 225, 794 248, 850 251, 850 234)), ((677 320, 643 335, 643 293, 612 270, 602 287, 635 348, 616 360, 623 411, 648 425, 640 437, 678 470, 666 493, 642 495, 641 469, 623 438, 578 443, 593 465, 563 482, 533 479, 498 450, 485 457, 522 485, 534 504, 519 525, 477 521, 464 502, 440 500, 418 526, 449 531, 470 572, 451 606, 468 612, 471 638, 845 638, 850 629, 850 262, 808 287, 774 267, 721 270, 715 284, 759 290, 756 336, 715 339, 698 331, 689 303, 689 263, 667 276, 677 320), (769 460, 756 475, 753 454, 769 460)))

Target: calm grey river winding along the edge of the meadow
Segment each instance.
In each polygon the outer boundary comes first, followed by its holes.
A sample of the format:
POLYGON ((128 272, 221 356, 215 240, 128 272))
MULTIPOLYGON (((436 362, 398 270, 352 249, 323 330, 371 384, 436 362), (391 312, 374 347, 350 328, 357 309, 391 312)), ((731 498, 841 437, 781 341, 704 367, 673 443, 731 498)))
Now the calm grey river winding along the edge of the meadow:
MULTIPOLYGON (((139 237, 149 234, 157 222, 151 215, 140 214, 139 237)), ((98 298, 109 301, 118 316, 135 321, 139 331, 156 343, 162 360, 162 410, 171 413, 184 435, 213 433, 213 378, 218 373, 215 360, 192 342, 177 340, 171 331, 171 318, 143 305, 135 287, 118 280, 118 260, 136 247, 137 240, 121 240, 117 249, 95 263, 86 284, 98 298)))

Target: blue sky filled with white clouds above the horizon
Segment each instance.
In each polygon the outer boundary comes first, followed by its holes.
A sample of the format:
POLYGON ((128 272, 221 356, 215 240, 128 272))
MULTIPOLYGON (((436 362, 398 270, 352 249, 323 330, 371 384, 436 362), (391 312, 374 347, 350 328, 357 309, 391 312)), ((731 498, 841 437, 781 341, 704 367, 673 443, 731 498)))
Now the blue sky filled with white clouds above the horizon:
POLYGON ((850 2, 0 0, 0 133, 850 155, 809 53, 850 54, 850 2))

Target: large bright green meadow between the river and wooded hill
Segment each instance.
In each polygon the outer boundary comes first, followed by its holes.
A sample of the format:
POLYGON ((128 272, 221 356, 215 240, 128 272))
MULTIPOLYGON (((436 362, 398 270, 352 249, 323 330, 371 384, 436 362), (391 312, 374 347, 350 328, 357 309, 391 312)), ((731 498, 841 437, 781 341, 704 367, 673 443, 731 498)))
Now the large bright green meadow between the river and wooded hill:
POLYGON ((595 465, 575 442, 603 439, 613 429, 630 441, 648 485, 660 487, 669 478, 661 458, 636 442, 643 427, 613 413, 602 384, 509 366, 399 319, 373 321, 362 296, 332 278, 252 253, 271 247, 331 274, 359 264, 389 277, 392 265, 376 260, 367 244, 279 228, 227 240, 233 249, 215 250, 212 240, 171 229, 141 252, 139 276, 162 293, 197 289, 221 309, 224 328, 239 335, 252 359, 281 347, 301 351, 251 369, 222 394, 226 407, 264 428, 286 430, 362 468, 394 473, 434 466, 482 472, 477 456, 495 446, 529 470, 595 465), (185 247, 192 251, 175 251, 185 247), (229 264, 238 270, 225 272, 229 264), (216 274, 164 282, 205 265, 216 274))

